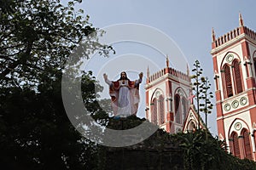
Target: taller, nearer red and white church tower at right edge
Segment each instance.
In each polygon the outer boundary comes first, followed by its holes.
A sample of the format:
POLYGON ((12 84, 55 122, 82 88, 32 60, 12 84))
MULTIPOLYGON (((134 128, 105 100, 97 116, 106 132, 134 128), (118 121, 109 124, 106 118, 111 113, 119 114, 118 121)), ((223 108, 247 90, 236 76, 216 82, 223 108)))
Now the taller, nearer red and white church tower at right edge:
POLYGON ((218 137, 241 159, 256 160, 256 33, 239 26, 216 38, 212 28, 218 137))

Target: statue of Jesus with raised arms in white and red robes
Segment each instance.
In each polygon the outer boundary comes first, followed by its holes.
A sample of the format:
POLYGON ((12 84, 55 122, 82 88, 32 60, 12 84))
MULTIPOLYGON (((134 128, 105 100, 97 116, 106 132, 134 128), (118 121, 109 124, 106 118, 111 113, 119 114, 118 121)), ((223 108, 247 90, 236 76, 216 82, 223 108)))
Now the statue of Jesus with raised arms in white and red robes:
POLYGON ((143 80, 143 72, 139 74, 139 79, 136 81, 130 81, 125 71, 121 72, 119 80, 115 82, 109 81, 105 73, 103 77, 109 85, 113 115, 120 117, 136 115, 139 103, 139 84, 143 80))

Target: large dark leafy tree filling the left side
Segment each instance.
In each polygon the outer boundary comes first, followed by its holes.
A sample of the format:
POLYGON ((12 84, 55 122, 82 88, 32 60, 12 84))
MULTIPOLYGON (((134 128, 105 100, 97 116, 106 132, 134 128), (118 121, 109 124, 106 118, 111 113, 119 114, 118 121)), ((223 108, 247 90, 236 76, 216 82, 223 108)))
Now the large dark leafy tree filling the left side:
MULTIPOLYGON (((0 0, 0 166, 3 169, 93 169, 99 147, 84 139, 67 118, 61 99, 64 63, 79 42, 84 58, 111 47, 90 35, 96 31, 82 10, 59 0, 0 0), (90 37, 90 38, 87 38, 90 37)), ((101 121, 95 86, 84 72, 84 105, 101 121)))

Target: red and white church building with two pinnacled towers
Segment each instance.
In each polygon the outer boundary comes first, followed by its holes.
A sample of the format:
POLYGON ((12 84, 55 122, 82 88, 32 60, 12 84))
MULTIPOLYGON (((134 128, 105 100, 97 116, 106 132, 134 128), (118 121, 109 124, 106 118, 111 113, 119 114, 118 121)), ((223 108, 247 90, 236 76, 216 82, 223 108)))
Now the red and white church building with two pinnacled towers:
MULTIPOLYGON (((256 32, 239 26, 221 37, 212 28, 218 137, 231 154, 256 161, 256 32)), ((189 69, 169 67, 147 71, 146 118, 168 133, 187 132, 205 125, 193 105, 189 69)))

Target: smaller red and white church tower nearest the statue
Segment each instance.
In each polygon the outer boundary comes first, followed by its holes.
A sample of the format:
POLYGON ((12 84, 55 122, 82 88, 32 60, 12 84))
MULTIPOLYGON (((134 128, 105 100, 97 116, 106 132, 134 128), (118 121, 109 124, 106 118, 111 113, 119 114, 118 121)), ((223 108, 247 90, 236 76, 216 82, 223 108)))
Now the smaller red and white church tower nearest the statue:
POLYGON ((169 67, 152 75, 147 71, 146 118, 168 133, 183 130, 183 122, 189 111, 191 91, 189 69, 187 73, 169 67))

